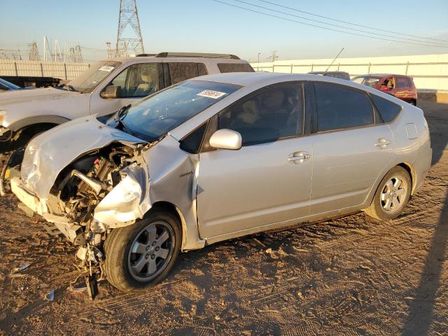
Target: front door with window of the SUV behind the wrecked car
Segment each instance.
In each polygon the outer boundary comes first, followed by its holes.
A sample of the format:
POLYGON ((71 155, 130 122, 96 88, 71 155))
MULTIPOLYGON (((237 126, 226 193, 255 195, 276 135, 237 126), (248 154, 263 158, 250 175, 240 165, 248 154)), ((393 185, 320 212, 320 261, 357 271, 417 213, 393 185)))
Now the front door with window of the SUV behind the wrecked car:
POLYGON ((106 87, 101 92, 94 92, 92 95, 91 114, 116 111, 127 104, 137 102, 149 94, 162 90, 165 87, 162 63, 139 63, 127 66, 106 87), (120 87, 121 97, 103 98, 101 93, 109 85, 120 87))

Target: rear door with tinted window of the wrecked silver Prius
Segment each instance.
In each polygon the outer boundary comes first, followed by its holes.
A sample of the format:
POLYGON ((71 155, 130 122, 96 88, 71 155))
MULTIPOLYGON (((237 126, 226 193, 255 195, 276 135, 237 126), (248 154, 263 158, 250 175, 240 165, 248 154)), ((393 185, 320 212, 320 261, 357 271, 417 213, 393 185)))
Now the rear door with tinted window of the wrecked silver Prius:
POLYGON ((311 214, 365 202, 391 161, 393 135, 362 90, 314 83, 311 214))

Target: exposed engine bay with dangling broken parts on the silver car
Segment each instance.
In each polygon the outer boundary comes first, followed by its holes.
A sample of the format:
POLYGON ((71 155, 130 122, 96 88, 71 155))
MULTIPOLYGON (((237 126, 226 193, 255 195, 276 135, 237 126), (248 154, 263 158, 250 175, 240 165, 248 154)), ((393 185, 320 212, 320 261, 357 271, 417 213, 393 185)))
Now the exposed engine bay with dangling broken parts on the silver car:
POLYGON ((111 230, 94 220, 94 210, 125 179, 129 167, 140 166, 142 148, 111 144, 86 153, 59 173, 50 190, 46 219, 53 219, 56 227, 79 246, 78 269, 89 273, 87 287, 95 282, 95 274, 103 276, 102 244, 111 230))

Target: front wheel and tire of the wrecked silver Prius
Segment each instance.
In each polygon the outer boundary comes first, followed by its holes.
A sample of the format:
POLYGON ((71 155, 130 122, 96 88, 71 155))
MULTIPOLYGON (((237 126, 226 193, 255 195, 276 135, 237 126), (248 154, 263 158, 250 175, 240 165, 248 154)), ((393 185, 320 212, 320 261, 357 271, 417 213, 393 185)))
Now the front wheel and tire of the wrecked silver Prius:
POLYGON ((109 283, 123 291, 155 286, 172 269, 181 242, 179 219, 165 211, 112 230, 104 241, 104 272, 109 283))

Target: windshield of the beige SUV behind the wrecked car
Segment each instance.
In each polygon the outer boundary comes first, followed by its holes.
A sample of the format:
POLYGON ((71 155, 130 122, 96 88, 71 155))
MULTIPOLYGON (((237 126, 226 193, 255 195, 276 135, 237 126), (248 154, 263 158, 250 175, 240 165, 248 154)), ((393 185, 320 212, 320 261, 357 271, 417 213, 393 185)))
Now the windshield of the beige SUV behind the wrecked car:
POLYGON ((88 70, 81 73, 79 77, 71 80, 69 85, 63 86, 62 89, 71 90, 71 88, 73 88, 74 91, 90 93, 104 80, 104 78, 109 76, 109 74, 120 65, 120 62, 114 61, 97 62, 90 66, 88 70))

